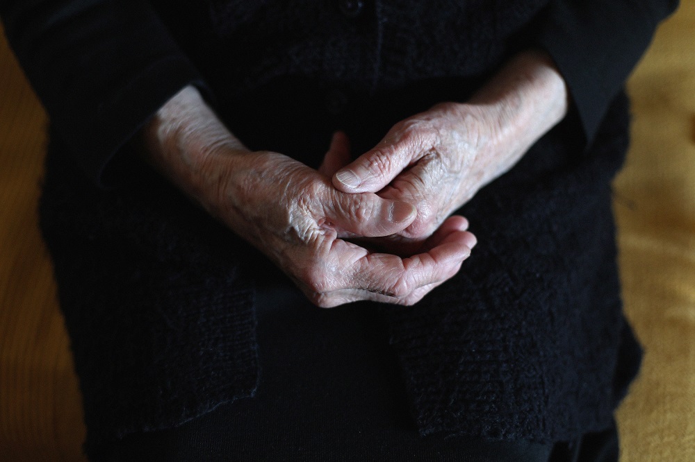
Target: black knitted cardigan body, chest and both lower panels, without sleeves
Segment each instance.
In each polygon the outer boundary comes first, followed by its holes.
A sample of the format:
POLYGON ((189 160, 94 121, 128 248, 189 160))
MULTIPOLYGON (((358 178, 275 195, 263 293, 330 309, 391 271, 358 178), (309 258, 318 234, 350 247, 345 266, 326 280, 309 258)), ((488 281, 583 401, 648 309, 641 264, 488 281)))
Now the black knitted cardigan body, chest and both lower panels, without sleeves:
MULTIPOLYGON (((201 19, 194 3, 153 2, 231 131, 316 165, 336 128, 360 153, 399 119, 463 101, 532 42, 525 26, 545 2, 366 1, 356 19, 308 0, 244 15, 211 1, 201 19)), ((627 110, 623 96, 588 152, 573 119, 541 139, 464 207, 480 243, 459 274, 416 307, 382 307, 421 434, 552 441, 611 425, 639 364, 610 210, 627 110)), ((98 189, 71 155, 104 153, 53 138, 41 223, 88 445, 252 396, 245 267, 259 254, 137 162, 121 162, 120 189, 98 189)))

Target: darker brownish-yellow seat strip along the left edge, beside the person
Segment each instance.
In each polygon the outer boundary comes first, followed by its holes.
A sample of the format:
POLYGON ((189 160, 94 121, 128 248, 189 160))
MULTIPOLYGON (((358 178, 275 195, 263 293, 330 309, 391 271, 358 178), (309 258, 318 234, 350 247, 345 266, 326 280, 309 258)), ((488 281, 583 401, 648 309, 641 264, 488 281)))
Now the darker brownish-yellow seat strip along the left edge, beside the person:
POLYGON ((0 461, 82 461, 81 398, 37 227, 46 115, 0 36, 0 461))

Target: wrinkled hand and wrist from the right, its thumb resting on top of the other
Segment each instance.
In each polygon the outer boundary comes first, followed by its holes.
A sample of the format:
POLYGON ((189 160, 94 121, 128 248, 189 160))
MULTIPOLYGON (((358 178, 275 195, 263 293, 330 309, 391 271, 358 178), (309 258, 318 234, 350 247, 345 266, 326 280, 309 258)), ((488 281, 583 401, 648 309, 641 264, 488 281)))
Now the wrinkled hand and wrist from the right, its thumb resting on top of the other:
POLYGON ((418 216, 399 234, 423 241, 555 126, 566 99, 547 55, 521 53, 468 103, 441 103, 397 123, 375 148, 338 170, 333 184, 411 203, 418 216))

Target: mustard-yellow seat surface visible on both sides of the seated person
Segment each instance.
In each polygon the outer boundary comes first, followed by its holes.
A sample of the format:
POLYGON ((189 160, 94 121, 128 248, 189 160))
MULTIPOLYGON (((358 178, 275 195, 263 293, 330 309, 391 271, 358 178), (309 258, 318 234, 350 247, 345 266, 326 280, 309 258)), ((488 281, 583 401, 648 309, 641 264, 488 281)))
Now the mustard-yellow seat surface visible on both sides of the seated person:
MULTIPOLYGON (((628 88, 634 135, 614 209, 626 311, 646 356, 618 412, 622 461, 695 461, 695 0, 660 28, 628 88)), ((85 460, 37 228, 45 123, 0 40, 0 461, 85 460)))

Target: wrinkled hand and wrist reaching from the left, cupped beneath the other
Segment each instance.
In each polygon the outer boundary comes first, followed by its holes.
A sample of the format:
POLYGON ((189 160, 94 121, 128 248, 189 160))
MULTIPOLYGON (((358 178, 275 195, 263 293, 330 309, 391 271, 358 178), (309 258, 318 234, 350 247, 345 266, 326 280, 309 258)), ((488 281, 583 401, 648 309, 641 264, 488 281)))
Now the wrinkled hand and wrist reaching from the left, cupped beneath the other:
MULTIPOLYGON (((416 211, 373 193, 338 191, 331 172, 285 155, 248 151, 195 89, 187 90, 145 129, 150 162, 268 255, 315 305, 357 300, 413 305, 455 275, 470 255, 475 237, 465 231, 468 223, 461 216, 445 221, 422 253, 410 257, 373 253, 345 240, 400 232, 416 211)), ((329 151, 327 158, 334 157, 329 151)))

